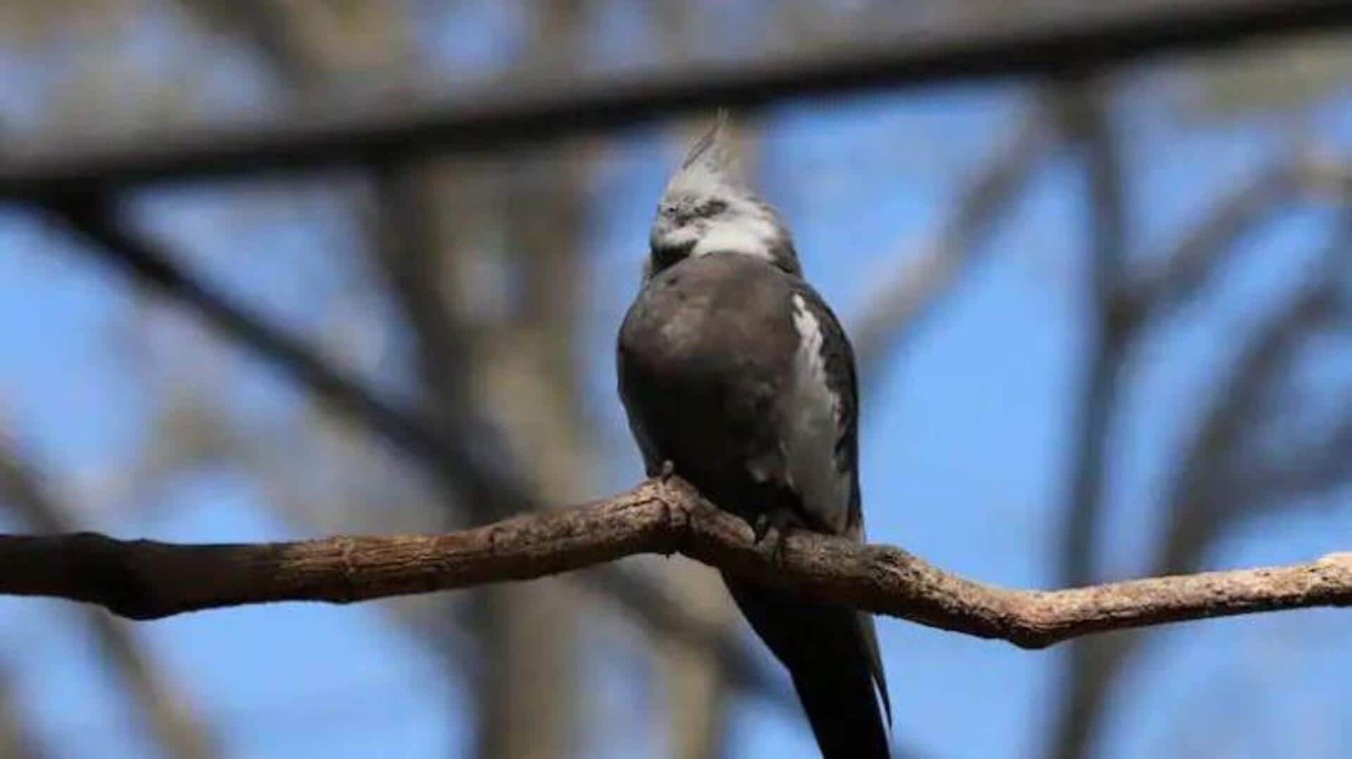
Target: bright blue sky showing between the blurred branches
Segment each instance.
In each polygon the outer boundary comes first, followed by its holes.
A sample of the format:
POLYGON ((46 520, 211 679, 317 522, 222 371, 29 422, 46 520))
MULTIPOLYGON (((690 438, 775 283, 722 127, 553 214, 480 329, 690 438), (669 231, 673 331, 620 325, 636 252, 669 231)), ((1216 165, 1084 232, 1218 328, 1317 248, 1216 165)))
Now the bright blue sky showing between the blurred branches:
MULTIPOLYGON (((448 69, 510 55, 510 39, 495 38, 500 20, 479 14, 423 31, 449 41, 441 46, 448 69)), ((170 22, 145 23, 128 38, 143 65, 173 65, 191 46, 170 22)), ((612 24, 599 57, 641 57, 642 45, 626 39, 623 14, 612 24)), ((203 103, 233 118, 266 112, 266 88, 247 62, 211 47, 206 54, 219 58, 220 70, 197 95, 203 103)), ((1114 99, 1136 262, 1263 166, 1288 134, 1288 122, 1265 114, 1179 118, 1169 70, 1130 69, 1114 99)), ((42 76, 0 54, 0 118, 20 131, 42 76)), ((846 325, 879 273, 919 248, 969 172, 1009 138, 1028 96, 1019 83, 936 87, 788 101, 761 114, 757 184, 791 225, 807 277, 846 325)), ((1352 89, 1318 97, 1309 118, 1321 141, 1352 147, 1352 89)), ((588 188, 591 296, 581 346, 588 410, 606 452, 598 497, 641 476, 614 392, 612 341, 684 137, 653 124, 573 143, 600 152, 588 188)), ((380 326, 389 304, 361 287, 372 279, 358 253, 361 230, 327 191, 343 181, 322 176, 262 191, 172 187, 138 196, 134 214, 193 272, 296 334, 323 342, 337 317, 349 319, 339 323, 357 338, 334 359, 400 395, 408 390, 404 369, 392 368, 400 346, 380 326)), ((1079 164, 1064 150, 1044 162, 1017 212, 992 235, 990 256, 863 399, 871 540, 979 580, 1053 584, 1073 433, 1068 399, 1086 354, 1083 185, 1079 164)), ((1225 276, 1151 333, 1110 449, 1109 515, 1098 549, 1115 575, 1144 570, 1172 455, 1217 368, 1237 348, 1229 337, 1261 318, 1283 283, 1307 272, 1332 218, 1332 208, 1317 204, 1283 211, 1244 239, 1225 276)), ((191 317, 72 254, 76 245, 23 210, 0 210, 0 418, 55 491, 88 505, 81 506, 88 526, 122 537, 306 537, 230 465, 178 472, 150 492, 118 490, 130 452, 151 433, 147 398, 160 387, 138 368, 139 338, 126 326, 134 315, 151 314, 153 329, 184 346, 187 364, 200 361, 201 371, 227 377, 219 380, 230 388, 219 403, 230 414, 266 425, 289 418, 301 400, 270 367, 222 348, 191 317)), ((1207 566, 1306 561, 1352 549, 1349 525, 1347 492, 1324 494, 1310 507, 1226 533, 1207 566)), ((3 511, 0 526, 12 526, 3 511)), ((445 678, 442 659, 377 605, 215 610, 141 624, 137 633, 210 718, 230 756, 448 756, 466 739, 464 695, 445 678)), ((904 745, 936 758, 1041 750, 1059 649, 1025 652, 898 620, 882 620, 879 635, 904 745)), ((1352 617, 1336 610, 1161 629, 1115 691, 1102 755, 1280 756, 1293 747, 1302 756, 1352 755, 1349 636, 1352 617)), ((660 735, 642 724, 653 697, 634 640, 614 633, 596 641, 622 652, 630 647, 598 678, 588 706, 614 716, 612 731, 588 739, 598 756, 656 755, 660 745, 660 735)), ((153 755, 70 605, 0 599, 0 671, 23 694, 20 709, 53 756, 153 755)), ((757 701, 741 701, 737 710, 731 755, 814 755, 796 714, 757 701)))

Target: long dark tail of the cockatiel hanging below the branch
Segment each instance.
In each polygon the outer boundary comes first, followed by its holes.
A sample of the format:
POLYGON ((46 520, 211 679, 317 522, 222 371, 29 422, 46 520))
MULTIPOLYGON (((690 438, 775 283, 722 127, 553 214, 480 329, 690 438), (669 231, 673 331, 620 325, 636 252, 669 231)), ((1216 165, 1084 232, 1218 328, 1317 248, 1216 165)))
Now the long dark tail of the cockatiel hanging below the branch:
POLYGON ((891 724, 873 620, 723 575, 737 606, 788 668, 825 759, 887 759, 891 724), (875 695, 875 683, 877 695, 875 695), (882 704, 879 704, 882 697, 882 704))

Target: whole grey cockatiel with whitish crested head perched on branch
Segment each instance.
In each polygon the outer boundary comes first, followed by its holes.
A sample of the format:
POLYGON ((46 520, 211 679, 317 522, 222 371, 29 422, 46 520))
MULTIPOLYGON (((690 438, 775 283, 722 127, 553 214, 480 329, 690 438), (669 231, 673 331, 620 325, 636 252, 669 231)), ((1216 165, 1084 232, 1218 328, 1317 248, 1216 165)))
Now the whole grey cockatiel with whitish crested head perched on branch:
MULTIPOLYGON (((667 184, 619 330, 630 430, 649 476, 669 464, 757 538, 803 529, 863 541, 853 349, 779 214, 737 177, 722 123, 667 184)), ((822 755, 888 756, 872 617, 723 582, 788 668, 822 755)))

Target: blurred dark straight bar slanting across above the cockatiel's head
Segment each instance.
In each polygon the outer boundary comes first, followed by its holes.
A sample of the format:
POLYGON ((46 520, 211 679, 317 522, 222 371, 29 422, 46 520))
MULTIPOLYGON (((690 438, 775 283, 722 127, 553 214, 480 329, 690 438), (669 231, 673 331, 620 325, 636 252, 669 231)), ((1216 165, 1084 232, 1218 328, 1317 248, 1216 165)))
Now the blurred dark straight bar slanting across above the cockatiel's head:
MULTIPOLYGON (((452 103, 311 115, 284 126, 203 129, 134 143, 7 152, 0 199, 130 185, 379 164, 429 150, 502 147, 634 126, 715 107, 756 108, 790 97, 857 93, 973 77, 1060 76, 1178 51, 1201 51, 1352 24, 1344 0, 1194 0, 1067 9, 1052 20, 927 28, 887 45, 829 55, 683 66, 529 91, 479 92, 452 103)), ((407 99, 406 99, 407 100, 407 99)))

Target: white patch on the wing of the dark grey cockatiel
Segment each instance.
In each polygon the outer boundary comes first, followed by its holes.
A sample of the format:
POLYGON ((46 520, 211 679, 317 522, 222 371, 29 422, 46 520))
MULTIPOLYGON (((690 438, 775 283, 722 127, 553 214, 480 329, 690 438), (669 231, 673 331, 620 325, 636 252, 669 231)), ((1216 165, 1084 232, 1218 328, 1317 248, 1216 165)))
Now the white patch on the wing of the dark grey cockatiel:
POLYGON ((849 478, 836 465, 836 442, 841 430, 841 399, 826 375, 822 342, 826 333, 800 294, 794 294, 794 327, 798 352, 794 382, 784 407, 783 441, 791 484, 808 514, 837 534, 849 521, 849 478))

